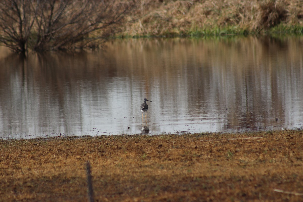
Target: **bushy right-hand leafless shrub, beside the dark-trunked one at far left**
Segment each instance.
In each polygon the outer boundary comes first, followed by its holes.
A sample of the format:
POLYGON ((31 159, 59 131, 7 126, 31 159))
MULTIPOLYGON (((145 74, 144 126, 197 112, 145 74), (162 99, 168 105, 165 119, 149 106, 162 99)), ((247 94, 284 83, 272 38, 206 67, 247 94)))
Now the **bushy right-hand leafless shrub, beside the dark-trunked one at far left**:
POLYGON ((97 40, 119 31, 117 25, 134 7, 135 1, 47 1, 37 10, 38 38, 33 49, 98 47, 97 40), (97 36, 90 35, 97 30, 97 36))

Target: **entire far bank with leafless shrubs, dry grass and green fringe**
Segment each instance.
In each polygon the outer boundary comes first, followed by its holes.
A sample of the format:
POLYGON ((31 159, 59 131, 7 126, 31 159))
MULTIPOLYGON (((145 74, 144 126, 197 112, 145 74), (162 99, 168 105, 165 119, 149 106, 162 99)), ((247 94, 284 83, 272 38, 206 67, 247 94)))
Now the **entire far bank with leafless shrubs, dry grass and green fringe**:
POLYGON ((0 5, 0 45, 23 54, 95 49, 112 37, 303 34, 301 0, 2 0, 0 5))

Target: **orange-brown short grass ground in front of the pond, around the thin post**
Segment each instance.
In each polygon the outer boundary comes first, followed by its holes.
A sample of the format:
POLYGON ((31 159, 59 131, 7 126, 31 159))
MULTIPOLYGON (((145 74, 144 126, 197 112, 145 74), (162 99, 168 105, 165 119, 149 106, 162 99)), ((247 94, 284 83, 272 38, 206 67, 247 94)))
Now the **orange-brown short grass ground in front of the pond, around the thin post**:
POLYGON ((0 201, 87 201, 86 161, 95 201, 303 200, 298 130, 0 140, 0 201))

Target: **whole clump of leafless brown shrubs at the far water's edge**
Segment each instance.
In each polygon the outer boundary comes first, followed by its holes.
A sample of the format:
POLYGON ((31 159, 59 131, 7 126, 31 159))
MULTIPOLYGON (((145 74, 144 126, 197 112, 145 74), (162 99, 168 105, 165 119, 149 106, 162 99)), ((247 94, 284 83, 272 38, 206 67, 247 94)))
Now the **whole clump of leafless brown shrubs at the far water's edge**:
POLYGON ((0 41, 17 52, 96 48, 136 6, 136 0, 0 2, 0 41))

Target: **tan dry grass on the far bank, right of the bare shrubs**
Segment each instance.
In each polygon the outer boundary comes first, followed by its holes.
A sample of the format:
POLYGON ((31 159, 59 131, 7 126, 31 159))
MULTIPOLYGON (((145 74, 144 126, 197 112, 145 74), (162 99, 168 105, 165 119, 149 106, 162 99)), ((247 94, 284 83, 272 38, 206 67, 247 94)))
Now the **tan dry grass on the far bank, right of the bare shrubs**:
POLYGON ((274 26, 303 26, 300 0, 141 1, 138 22, 128 25, 128 35, 182 35, 205 29, 260 32, 274 26))

